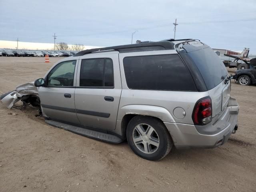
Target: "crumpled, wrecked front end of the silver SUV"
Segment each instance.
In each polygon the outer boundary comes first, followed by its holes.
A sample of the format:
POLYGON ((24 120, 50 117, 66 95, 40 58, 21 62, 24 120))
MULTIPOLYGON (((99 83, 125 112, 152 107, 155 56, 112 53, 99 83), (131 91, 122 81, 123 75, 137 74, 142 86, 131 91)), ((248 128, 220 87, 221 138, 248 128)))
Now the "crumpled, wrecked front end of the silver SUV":
POLYGON ((32 106, 40 106, 38 88, 34 85, 34 82, 17 86, 16 90, 0 96, 0 100, 8 109, 11 109, 19 100, 23 102, 23 106, 28 104, 31 104, 32 106))

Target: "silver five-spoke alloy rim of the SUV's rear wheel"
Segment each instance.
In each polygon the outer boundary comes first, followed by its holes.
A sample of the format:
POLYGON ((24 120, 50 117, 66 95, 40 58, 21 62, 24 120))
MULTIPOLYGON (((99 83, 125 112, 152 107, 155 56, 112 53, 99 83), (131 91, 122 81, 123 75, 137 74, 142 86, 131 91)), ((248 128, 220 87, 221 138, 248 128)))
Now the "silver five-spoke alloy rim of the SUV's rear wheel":
POLYGON ((152 154, 159 148, 160 140, 156 130, 148 124, 138 124, 132 132, 135 146, 145 154, 152 154))

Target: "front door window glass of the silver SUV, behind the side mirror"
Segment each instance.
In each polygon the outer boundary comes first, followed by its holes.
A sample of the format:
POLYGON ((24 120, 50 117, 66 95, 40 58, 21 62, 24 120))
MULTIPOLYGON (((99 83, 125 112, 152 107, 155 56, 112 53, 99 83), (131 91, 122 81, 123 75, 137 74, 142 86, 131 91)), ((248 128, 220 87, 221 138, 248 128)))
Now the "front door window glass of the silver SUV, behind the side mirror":
POLYGON ((76 60, 56 65, 47 76, 48 86, 73 86, 76 60))

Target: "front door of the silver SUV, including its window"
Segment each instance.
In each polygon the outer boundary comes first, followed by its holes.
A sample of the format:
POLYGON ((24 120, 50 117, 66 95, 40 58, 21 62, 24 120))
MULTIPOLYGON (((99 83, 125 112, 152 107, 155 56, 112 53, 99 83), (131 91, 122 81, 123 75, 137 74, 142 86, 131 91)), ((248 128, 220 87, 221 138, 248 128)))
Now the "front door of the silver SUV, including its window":
POLYGON ((39 88, 43 113, 50 118, 79 123, 74 103, 76 60, 60 62, 46 76, 46 86, 39 88))

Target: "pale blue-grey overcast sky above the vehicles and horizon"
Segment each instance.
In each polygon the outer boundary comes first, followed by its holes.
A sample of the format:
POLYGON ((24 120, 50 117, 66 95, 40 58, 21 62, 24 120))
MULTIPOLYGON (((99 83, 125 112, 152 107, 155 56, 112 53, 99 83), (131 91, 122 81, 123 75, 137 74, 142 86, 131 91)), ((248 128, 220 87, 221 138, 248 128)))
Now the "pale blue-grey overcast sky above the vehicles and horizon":
POLYGON ((115 46, 200 39, 256 54, 256 0, 0 0, 0 40, 115 46))

